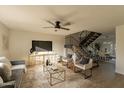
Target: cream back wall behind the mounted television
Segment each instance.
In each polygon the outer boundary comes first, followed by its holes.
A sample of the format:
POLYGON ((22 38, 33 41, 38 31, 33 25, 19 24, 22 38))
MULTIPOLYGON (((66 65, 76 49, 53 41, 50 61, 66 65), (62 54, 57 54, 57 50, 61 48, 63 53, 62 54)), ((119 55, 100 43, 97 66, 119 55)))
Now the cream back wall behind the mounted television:
POLYGON ((32 47, 32 40, 52 41, 53 51, 59 55, 64 54, 64 36, 28 31, 10 31, 10 59, 24 59, 27 62, 32 47))

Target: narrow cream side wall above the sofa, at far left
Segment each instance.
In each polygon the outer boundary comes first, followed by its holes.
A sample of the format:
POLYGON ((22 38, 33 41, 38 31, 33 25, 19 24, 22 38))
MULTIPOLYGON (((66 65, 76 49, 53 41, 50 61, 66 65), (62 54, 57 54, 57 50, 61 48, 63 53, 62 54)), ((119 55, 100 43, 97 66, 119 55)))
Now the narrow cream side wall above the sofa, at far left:
POLYGON ((0 56, 9 58, 9 31, 2 23, 0 23, 0 56))

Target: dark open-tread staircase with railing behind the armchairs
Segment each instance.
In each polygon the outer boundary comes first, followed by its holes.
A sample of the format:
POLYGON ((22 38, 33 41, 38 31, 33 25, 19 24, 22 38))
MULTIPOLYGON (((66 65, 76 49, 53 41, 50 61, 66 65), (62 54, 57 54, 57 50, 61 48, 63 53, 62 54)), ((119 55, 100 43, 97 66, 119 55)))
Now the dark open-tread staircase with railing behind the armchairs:
POLYGON ((98 59, 96 56, 92 55, 89 50, 88 47, 91 47, 91 44, 93 44, 93 42, 101 35, 101 33, 97 33, 97 32, 89 32, 89 31, 82 31, 80 33, 78 33, 78 40, 77 37, 75 38, 74 35, 68 35, 66 36, 65 39, 68 39, 65 44, 65 48, 70 48, 73 51, 73 47, 75 46, 76 48, 76 53, 79 56, 85 56, 85 57, 90 57, 93 59, 98 59))

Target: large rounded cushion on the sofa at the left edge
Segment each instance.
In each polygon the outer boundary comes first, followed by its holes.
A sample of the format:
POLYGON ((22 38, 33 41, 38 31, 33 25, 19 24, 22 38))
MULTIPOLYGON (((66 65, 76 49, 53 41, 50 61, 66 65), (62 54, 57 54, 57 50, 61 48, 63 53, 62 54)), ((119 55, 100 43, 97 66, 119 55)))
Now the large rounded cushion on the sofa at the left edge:
POLYGON ((10 65, 7 63, 0 63, 0 76, 4 82, 7 82, 11 79, 12 71, 10 65))

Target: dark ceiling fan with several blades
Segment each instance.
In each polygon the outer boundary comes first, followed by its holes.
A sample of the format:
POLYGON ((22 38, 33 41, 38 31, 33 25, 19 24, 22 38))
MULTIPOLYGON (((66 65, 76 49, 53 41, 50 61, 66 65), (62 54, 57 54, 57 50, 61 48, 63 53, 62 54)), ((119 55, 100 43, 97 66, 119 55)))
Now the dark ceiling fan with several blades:
POLYGON ((52 27, 43 27, 43 28, 55 28, 55 31, 57 31, 57 29, 63 29, 63 30, 70 30, 69 28, 65 28, 63 26, 67 26, 67 25, 71 25, 70 22, 66 22, 62 25, 61 21, 55 21, 55 22, 51 22, 46 20, 46 22, 50 23, 51 25, 53 25, 52 27))

